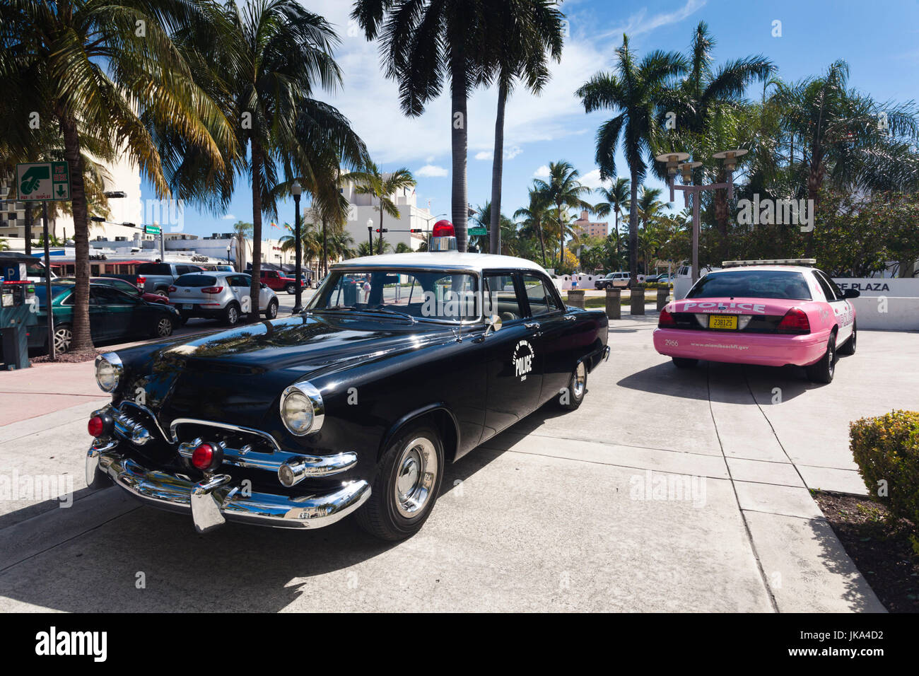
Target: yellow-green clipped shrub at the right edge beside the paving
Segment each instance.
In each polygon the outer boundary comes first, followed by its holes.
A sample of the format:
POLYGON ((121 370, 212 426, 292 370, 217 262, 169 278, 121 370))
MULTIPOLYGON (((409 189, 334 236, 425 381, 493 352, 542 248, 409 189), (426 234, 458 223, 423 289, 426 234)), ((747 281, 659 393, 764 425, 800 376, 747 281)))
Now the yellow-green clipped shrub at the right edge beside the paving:
POLYGON ((919 528, 919 412, 856 420, 849 424, 849 447, 868 493, 919 528))

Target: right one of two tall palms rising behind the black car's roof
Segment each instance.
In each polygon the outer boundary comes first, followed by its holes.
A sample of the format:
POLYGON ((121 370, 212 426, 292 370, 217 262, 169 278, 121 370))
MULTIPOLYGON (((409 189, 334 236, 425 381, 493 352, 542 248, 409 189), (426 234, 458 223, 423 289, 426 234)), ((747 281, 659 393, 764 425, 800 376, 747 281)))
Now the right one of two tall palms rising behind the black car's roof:
POLYGON ((492 203, 486 227, 491 231, 491 253, 501 251, 501 178, 504 171, 505 105, 516 79, 539 93, 549 81, 547 55, 562 60, 564 15, 554 0, 492 0, 486 5, 489 18, 486 72, 494 72, 498 84, 498 109, 494 120, 492 203), (514 36, 508 40, 508 36, 514 36), (548 53, 547 53, 548 52, 548 53))

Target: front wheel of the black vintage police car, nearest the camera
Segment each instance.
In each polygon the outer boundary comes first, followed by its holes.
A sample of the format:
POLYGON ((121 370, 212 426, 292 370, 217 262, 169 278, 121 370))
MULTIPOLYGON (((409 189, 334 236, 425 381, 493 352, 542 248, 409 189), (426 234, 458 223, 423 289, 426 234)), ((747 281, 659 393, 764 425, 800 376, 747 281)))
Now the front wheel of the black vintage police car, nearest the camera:
POLYGON ((414 535, 434 508, 443 475, 440 433, 424 423, 404 430, 380 458, 357 523, 382 540, 414 535))

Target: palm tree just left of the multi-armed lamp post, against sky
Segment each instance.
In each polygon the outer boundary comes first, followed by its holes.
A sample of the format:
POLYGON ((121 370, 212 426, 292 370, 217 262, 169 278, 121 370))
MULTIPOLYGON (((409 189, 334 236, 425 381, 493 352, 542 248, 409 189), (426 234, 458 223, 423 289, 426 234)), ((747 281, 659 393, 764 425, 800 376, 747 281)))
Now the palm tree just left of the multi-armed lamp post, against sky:
MULTIPOLYGON (((577 90, 586 112, 612 109, 618 115, 604 122, 596 132, 596 164, 600 178, 616 176, 616 148, 622 136, 622 149, 630 171, 630 203, 638 201, 638 186, 658 145, 660 130, 655 121, 657 103, 672 79, 686 72, 686 61, 676 52, 655 51, 641 62, 629 49, 628 36, 616 51, 615 73, 597 73, 577 90)), ((638 210, 629 211, 629 271, 638 279, 638 210)))

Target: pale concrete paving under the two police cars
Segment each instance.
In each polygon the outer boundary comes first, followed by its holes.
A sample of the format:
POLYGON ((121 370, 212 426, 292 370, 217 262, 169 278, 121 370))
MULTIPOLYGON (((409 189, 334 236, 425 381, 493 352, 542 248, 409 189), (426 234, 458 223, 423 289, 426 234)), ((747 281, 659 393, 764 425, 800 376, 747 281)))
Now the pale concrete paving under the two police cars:
POLYGON ((796 369, 677 371, 653 322, 616 323, 579 410, 542 409, 449 467, 401 544, 350 520, 202 537, 89 493, 95 401, 0 427, 0 474, 70 475, 75 498, 0 502, 0 611, 882 611, 808 488, 864 491, 847 425, 915 406, 915 335, 863 331, 814 385, 796 369))

